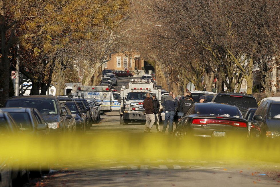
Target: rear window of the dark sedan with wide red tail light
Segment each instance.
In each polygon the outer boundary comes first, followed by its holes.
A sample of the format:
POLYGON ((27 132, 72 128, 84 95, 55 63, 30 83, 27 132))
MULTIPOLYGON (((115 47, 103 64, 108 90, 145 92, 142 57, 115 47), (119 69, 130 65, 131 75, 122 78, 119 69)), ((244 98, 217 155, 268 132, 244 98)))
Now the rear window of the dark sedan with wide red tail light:
POLYGON ((214 105, 214 104, 204 104, 197 105, 196 113, 198 115, 210 115, 210 116, 226 116, 226 117, 240 117, 242 115, 238 112, 238 110, 234 106, 228 105, 214 105))

